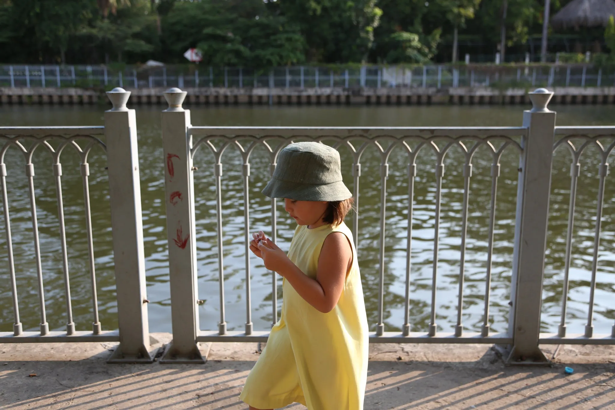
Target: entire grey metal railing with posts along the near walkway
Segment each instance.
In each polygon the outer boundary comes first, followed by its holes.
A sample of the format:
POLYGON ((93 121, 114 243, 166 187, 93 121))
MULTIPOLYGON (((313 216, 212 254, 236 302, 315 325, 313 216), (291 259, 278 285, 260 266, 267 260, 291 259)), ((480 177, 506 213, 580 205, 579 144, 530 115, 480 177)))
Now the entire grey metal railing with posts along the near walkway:
MULTIPOLYGON (((113 361, 151 361, 147 352, 149 345, 147 299, 145 296, 145 267, 143 256, 143 229, 139 188, 138 154, 136 139, 135 111, 125 108, 130 92, 116 89, 108 93, 113 109, 105 112, 104 127, 3 127, 0 128, 1 189, 4 209, 4 223, 7 236, 10 287, 14 304, 14 331, 0 333, 3 342, 64 342, 64 341, 117 341, 121 342, 113 361), (99 138, 105 136, 104 143, 99 138), (58 148, 50 141, 59 140, 58 148), (106 152, 109 178, 109 200, 111 203, 111 227, 113 232, 114 264, 117 285, 117 309, 119 333, 103 331, 97 315, 95 269, 92 257, 92 227, 89 215, 89 164, 90 151, 100 146, 106 152), (26 158, 26 176, 31 203, 34 249, 37 259, 37 278, 41 310, 41 330, 23 332, 19 316, 19 301, 15 281, 15 263, 12 254, 9 218, 9 200, 6 187, 6 165, 4 157, 10 147, 17 147, 26 158), (41 147, 52 154, 57 190, 58 220, 62 240, 63 279, 66 298, 66 332, 50 332, 44 310, 45 300, 43 275, 40 264, 40 249, 36 220, 36 202, 33 189, 33 152, 41 147), (92 282, 93 331, 76 331, 71 313, 69 272, 66 264, 68 253, 63 228, 62 165, 60 156, 65 148, 74 148, 79 154, 84 203, 86 231, 89 243, 90 280, 92 282)), ((555 127, 555 112, 547 109, 553 93, 539 89, 530 93, 533 103, 531 111, 523 113, 521 127, 194 127, 190 112, 182 108, 186 92, 171 89, 165 92, 169 108, 162 112, 162 143, 165 160, 165 198, 167 242, 169 244, 170 292, 172 306, 173 342, 165 352, 162 362, 202 363, 197 342, 205 341, 266 341, 268 331, 253 329, 250 280, 250 215, 248 196, 250 187, 250 158, 255 149, 268 153, 269 171, 273 173, 276 158, 282 148, 292 141, 319 141, 339 150, 350 152, 352 159, 352 189, 357 208, 361 209, 359 197, 362 158, 368 149, 375 151, 380 165, 379 200, 379 266, 377 318, 370 333, 370 342, 438 342, 438 343, 488 343, 507 345, 507 360, 510 363, 536 363, 547 361, 539 343, 544 344, 615 344, 615 326, 611 334, 593 333, 593 299, 597 288, 598 250, 602 208, 605 197, 605 181, 608 173, 608 157, 615 149, 615 127, 555 127), (221 141, 221 144, 219 143, 221 141), (571 152, 571 196, 566 232, 565 272, 562 286, 561 322, 558 334, 540 332, 542 286, 547 248, 547 224, 549 217, 550 183, 554 151, 566 146, 571 152), (598 148, 600 156, 599 188, 597 197, 597 218, 593 238, 592 278, 590 282, 589 309, 584 334, 566 334, 566 306, 569 288, 568 272, 573 260, 571 246, 574 238, 574 204, 576 199, 579 160, 589 147, 598 148), (469 219, 468 203, 470 181, 472 181, 473 159, 478 149, 490 153, 491 189, 488 213, 488 234, 486 240, 485 294, 483 317, 480 331, 464 330, 464 276, 466 272, 466 237, 469 219), (224 298, 223 221, 222 221, 222 177, 224 152, 237 150, 241 157, 244 195, 245 234, 245 323, 244 331, 227 330, 224 298), (218 286, 220 297, 220 320, 215 330, 200 329, 197 307, 200 304, 197 289, 197 249, 194 186, 194 159, 205 152, 214 159, 215 215, 218 255, 218 286), (403 152, 407 160, 408 202, 407 202, 407 243, 405 249, 405 298, 403 323, 400 331, 387 331, 384 323, 384 256, 386 235, 387 177, 389 160, 393 152, 403 152), (458 259, 457 318, 454 333, 438 331, 436 324, 436 301, 438 298, 438 246, 442 211, 443 175, 445 157, 456 152, 461 155, 463 173, 463 199, 461 203, 461 247, 458 259), (431 277, 431 309, 426 332, 412 331, 410 321, 411 252, 413 250, 413 207, 415 204, 416 160, 419 155, 431 153, 435 158, 434 188, 434 242, 431 277), (515 211, 514 251, 512 278, 510 283, 509 326, 496 333, 490 329, 492 258, 494 254, 494 221, 502 155, 519 155, 517 197, 515 211)), ((69 149, 71 149, 69 148, 69 149)), ((15 150, 13 150, 15 151, 15 150)), ((516 162, 516 159, 515 159, 516 162)), ((515 165, 516 168, 516 165, 515 165)), ((212 181, 213 182, 213 181, 212 181)), ((212 183, 212 186, 214 184, 212 183)), ((444 187, 446 189, 446 187, 444 187)), ((277 240, 277 201, 271 199, 272 240, 277 240)), ((359 244, 359 218, 352 219, 355 245, 359 244)), ((213 234, 213 232, 212 232, 213 234)), ((361 258, 359 254, 359 259, 361 258)), ((272 278, 272 323, 277 321, 277 282, 272 278)), ((237 324, 232 324, 236 327, 237 324)))

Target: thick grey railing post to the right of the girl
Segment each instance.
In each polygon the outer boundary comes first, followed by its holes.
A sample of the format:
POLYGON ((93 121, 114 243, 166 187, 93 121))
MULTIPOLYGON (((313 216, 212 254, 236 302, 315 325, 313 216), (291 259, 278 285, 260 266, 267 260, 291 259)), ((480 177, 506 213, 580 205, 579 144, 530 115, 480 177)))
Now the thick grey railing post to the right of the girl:
POLYGON ((549 219, 555 112, 547 109, 553 93, 529 93, 533 108, 523 112, 527 136, 522 140, 517 185, 517 216, 512 261, 509 335, 513 339, 507 363, 548 363, 538 347, 542 280, 549 219))

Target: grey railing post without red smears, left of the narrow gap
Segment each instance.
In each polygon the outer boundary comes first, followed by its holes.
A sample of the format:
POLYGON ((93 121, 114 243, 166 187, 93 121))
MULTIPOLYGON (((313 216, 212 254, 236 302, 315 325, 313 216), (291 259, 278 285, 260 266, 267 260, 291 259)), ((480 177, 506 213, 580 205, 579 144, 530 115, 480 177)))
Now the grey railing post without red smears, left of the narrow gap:
POLYGON ((108 363, 151 363, 137 120, 126 108, 130 92, 118 87, 107 95, 113 103, 105 111, 105 142, 120 341, 108 363))

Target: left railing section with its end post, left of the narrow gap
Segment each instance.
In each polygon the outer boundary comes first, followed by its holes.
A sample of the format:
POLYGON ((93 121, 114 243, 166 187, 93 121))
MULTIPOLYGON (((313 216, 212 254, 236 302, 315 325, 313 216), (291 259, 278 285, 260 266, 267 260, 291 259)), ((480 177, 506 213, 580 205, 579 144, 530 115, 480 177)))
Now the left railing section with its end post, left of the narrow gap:
MULTIPOLYGON (((0 127, 0 182, 10 289, 14 310, 12 332, 0 332, 0 343, 28 342, 108 342, 119 341, 119 348, 109 359, 110 363, 151 362, 147 347, 149 333, 145 297, 145 261, 143 256, 143 230, 141 227, 141 197, 139 187, 137 129, 135 111, 126 108, 130 93, 109 92, 114 108, 105 112, 103 127, 0 127), (105 137, 105 142, 101 140, 105 137), (54 144, 56 145, 54 148, 54 144), (23 331, 20 320, 15 259, 11 236, 9 196, 7 195, 6 154, 10 148, 20 151, 25 158, 28 178, 30 216, 33 232, 34 258, 38 279, 40 330, 23 331), (92 216, 90 213, 90 164, 93 149, 101 148, 108 167, 109 200, 111 202, 111 227, 113 231, 114 265, 116 274, 117 311, 119 331, 102 329, 98 317, 97 280, 93 249, 92 216), (44 294, 44 270, 41 264, 41 245, 34 189, 33 156, 37 150, 51 154, 55 179, 60 242, 62 244, 62 271, 64 298, 66 300, 66 331, 50 331, 47 322, 44 294), (82 176, 85 231, 87 235, 90 283, 92 291, 92 331, 77 331, 73 321, 71 286, 66 242, 64 203, 62 195, 62 153, 75 149, 79 155, 82 176)), ((72 204, 71 204, 72 205, 72 204)), ((19 272, 21 273, 21 272, 19 272)))

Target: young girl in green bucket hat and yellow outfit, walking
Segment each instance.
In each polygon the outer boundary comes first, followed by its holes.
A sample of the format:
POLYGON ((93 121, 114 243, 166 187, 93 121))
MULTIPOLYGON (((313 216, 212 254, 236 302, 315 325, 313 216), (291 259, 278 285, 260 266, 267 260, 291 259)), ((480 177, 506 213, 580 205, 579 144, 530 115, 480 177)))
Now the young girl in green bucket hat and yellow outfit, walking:
POLYGON ((344 217, 352 195, 339 153, 324 144, 284 148, 263 194, 284 198, 297 221, 287 254, 263 232, 250 250, 284 279, 282 314, 239 398, 251 410, 295 401, 309 410, 361 410, 368 326, 357 251, 344 217))

